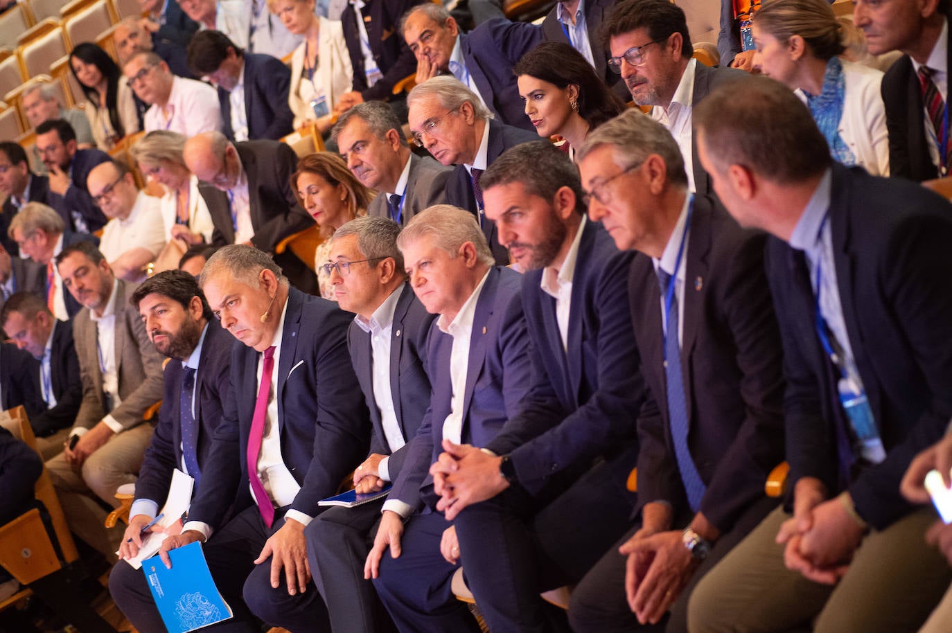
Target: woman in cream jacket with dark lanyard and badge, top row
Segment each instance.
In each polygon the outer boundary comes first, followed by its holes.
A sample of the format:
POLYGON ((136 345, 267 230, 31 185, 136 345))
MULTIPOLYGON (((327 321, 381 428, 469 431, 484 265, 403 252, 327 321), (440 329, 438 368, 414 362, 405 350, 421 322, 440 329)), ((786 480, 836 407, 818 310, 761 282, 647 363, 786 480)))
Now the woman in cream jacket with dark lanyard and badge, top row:
POLYGON ((268 0, 268 10, 304 42, 291 53, 291 86, 288 105, 294 112, 294 129, 317 121, 321 133, 333 126, 334 106, 353 84, 353 68, 336 20, 314 15, 314 0, 268 0))

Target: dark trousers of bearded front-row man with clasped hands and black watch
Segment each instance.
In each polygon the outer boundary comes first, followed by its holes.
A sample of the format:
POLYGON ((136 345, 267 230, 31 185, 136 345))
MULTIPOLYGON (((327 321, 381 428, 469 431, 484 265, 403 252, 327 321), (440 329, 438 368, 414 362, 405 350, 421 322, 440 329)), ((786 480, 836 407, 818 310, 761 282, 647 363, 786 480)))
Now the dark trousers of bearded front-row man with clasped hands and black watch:
POLYGON ((466 583, 491 631, 568 630, 540 591, 575 584, 630 526, 625 488, 632 446, 590 468, 545 503, 518 486, 467 507, 454 521, 466 583))

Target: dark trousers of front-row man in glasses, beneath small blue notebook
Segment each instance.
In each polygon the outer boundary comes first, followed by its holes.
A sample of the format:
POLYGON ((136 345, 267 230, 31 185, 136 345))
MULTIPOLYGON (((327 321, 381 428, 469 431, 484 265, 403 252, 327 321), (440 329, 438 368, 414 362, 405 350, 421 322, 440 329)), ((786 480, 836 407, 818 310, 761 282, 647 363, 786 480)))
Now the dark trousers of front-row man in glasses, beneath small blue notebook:
POLYGON ((380 524, 381 499, 357 507, 331 507, 307 525, 307 561, 324 597, 335 633, 395 630, 373 584, 364 579, 367 553, 380 524))

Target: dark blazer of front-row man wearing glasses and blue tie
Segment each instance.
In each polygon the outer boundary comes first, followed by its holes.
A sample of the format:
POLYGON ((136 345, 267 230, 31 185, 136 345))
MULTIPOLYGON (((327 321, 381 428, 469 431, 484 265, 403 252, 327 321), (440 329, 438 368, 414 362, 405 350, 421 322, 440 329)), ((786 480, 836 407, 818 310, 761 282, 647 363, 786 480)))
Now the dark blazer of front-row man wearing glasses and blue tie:
MULTIPOLYGON (((684 269, 681 366, 687 444, 706 486, 700 511, 722 532, 764 498, 783 461, 783 346, 764 274, 765 235, 695 197, 684 269)), ((689 512, 671 440, 662 295, 639 253, 628 281, 631 324, 650 400, 638 420, 639 505, 689 512)))

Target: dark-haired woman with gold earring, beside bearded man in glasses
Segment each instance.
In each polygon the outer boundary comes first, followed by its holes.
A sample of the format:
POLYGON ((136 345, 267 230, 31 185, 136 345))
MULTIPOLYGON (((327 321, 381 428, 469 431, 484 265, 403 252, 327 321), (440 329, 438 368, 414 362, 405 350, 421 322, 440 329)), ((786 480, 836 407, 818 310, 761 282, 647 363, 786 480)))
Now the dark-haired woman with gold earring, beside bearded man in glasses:
POLYGON ((591 64, 565 42, 543 42, 513 67, 526 116, 539 136, 561 136, 569 156, 592 129, 625 111, 591 64))

